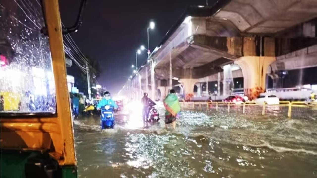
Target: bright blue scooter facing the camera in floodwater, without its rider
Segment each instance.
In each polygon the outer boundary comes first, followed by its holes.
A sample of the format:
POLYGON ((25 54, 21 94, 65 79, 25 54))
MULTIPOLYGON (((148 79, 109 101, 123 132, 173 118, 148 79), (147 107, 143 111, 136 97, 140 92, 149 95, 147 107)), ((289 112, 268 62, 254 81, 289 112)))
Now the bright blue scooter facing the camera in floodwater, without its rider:
POLYGON ((113 129, 114 126, 114 108, 110 105, 105 105, 100 108, 100 125, 101 129, 113 129))

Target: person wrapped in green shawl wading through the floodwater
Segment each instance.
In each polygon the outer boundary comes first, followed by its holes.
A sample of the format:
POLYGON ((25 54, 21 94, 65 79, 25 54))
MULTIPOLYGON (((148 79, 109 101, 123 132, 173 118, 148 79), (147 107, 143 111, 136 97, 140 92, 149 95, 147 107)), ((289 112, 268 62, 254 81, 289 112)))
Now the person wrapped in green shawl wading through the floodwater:
POLYGON ((178 97, 175 94, 175 90, 171 90, 170 94, 164 99, 164 106, 166 108, 165 112, 165 127, 168 124, 172 124, 173 129, 176 127, 176 118, 178 118, 178 113, 180 111, 180 105, 178 102, 178 97))

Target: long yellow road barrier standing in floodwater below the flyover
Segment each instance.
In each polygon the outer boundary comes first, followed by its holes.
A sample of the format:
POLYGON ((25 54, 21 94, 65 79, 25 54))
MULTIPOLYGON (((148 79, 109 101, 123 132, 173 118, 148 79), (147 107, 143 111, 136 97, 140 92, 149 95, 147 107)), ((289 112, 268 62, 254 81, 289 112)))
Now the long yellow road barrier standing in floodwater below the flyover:
MULTIPOLYGON (((251 111, 261 111, 261 115, 264 116, 267 113, 272 112, 272 114, 276 115, 276 111, 287 111, 287 117, 292 117, 292 111, 296 111, 296 114, 304 114, 307 112, 303 110, 306 108, 308 113, 315 113, 317 115, 317 104, 304 102, 304 101, 280 101, 279 104, 276 105, 268 105, 267 103, 258 104, 254 101, 246 101, 241 103, 232 103, 232 102, 180 102, 182 109, 188 110, 200 110, 200 111, 226 111, 231 112, 233 110, 240 111, 242 108, 242 113, 246 113, 246 108, 252 107, 249 110, 251 111), (299 110, 300 108, 300 110, 299 110)), ((286 113, 285 113, 286 114, 286 113)))

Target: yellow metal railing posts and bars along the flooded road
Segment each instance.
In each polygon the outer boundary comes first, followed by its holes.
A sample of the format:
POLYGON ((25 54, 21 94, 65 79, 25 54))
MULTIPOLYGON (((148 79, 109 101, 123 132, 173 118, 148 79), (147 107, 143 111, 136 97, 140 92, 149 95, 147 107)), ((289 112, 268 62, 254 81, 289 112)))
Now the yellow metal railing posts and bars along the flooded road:
MULTIPOLYGON (((180 102, 180 105, 181 105, 182 109, 189 109, 189 110, 196 109, 196 106, 198 106, 199 110, 203 110, 203 106, 206 106, 206 110, 210 110, 210 106, 215 106, 216 111, 219 111, 219 107, 222 107, 222 108, 226 107, 228 112, 230 112, 230 108, 232 106, 242 106, 243 107, 243 109, 242 109, 243 114, 245 114, 246 106, 261 106, 262 107, 261 115, 266 114, 266 108, 267 108, 266 103, 258 104, 254 101, 246 101, 246 102, 242 102, 242 103, 238 103, 238 104, 235 104, 232 102, 180 102)), ((304 102, 304 101, 293 101, 293 102, 280 101, 279 104, 270 105, 270 106, 288 106, 288 112, 287 112, 288 118, 292 117, 292 109, 294 107, 305 107, 305 108, 311 108, 311 109, 317 110, 317 104, 310 103, 310 102, 304 102)))

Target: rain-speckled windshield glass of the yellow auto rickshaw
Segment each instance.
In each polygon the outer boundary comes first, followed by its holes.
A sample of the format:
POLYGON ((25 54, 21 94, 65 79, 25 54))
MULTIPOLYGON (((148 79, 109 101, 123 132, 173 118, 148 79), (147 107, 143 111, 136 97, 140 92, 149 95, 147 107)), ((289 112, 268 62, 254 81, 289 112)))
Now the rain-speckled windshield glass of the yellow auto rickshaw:
POLYGON ((1 114, 56 113, 41 1, 1 1, 1 114))

